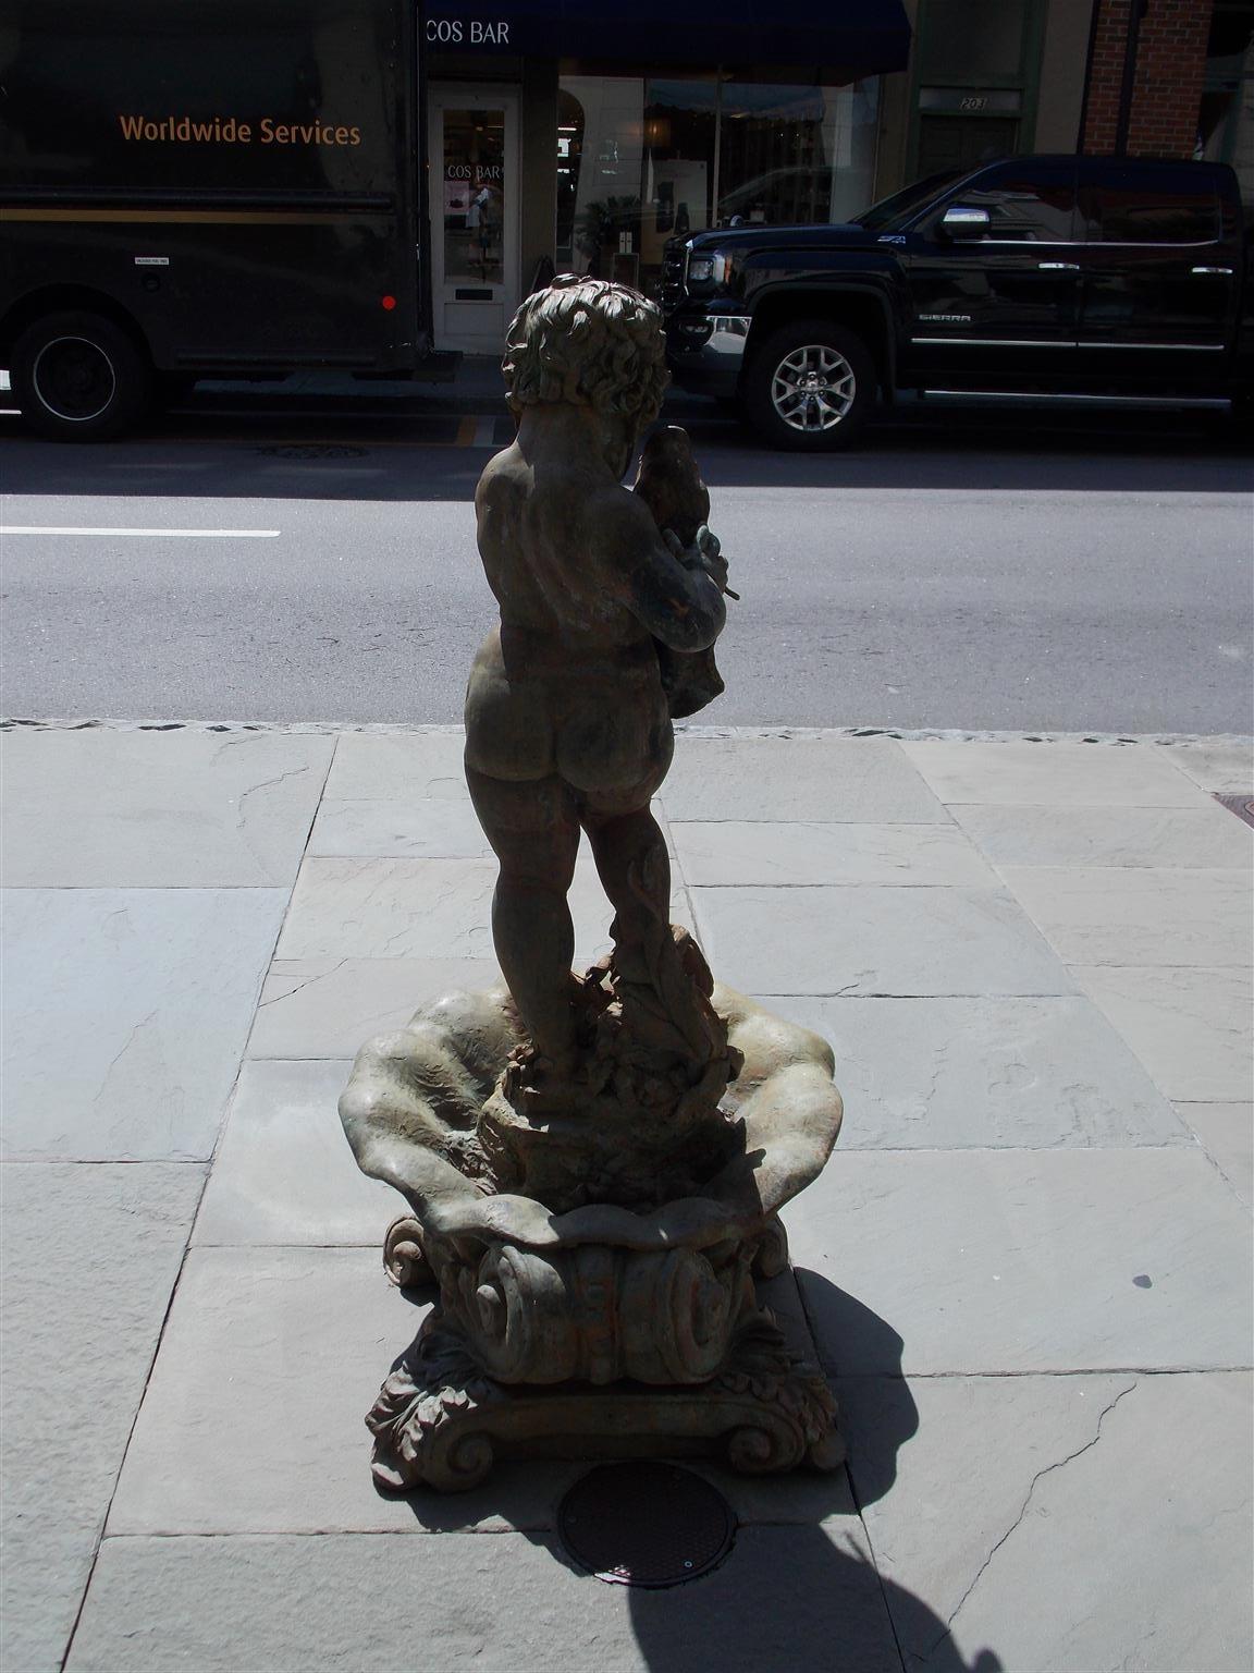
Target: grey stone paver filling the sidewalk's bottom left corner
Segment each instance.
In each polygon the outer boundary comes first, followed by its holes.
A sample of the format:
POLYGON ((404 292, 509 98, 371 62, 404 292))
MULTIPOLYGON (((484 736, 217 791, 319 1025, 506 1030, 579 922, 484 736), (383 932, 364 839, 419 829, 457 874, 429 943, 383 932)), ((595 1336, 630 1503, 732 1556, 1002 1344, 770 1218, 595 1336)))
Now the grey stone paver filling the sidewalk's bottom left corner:
POLYGON ((5 1163, 0 1663, 55 1673, 204 1183, 5 1163))

